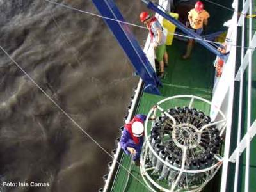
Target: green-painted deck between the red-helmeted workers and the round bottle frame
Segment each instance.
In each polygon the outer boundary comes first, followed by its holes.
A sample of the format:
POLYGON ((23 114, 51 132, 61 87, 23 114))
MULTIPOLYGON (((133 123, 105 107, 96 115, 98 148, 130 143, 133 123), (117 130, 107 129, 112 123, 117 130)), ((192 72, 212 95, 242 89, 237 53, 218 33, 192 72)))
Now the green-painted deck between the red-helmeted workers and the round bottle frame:
MULTIPOLYGON (((196 45, 191 58, 182 60, 182 51, 185 47, 186 43, 178 40, 174 40, 173 45, 168 47, 169 67, 165 68, 166 75, 162 80, 163 87, 160 89, 162 96, 143 93, 137 113, 147 114, 156 102, 173 95, 196 95, 211 100, 214 79, 214 67, 211 63, 214 60, 214 55, 206 51, 204 47, 196 45), (204 57, 200 57, 202 52, 204 52, 204 57)), ((188 106, 188 104, 188 101, 185 102, 182 99, 175 102, 175 106, 188 106)), ((195 106, 204 111, 209 111, 209 106, 205 106, 202 102, 195 102, 195 106)), ((131 164, 129 156, 123 154, 121 163, 140 181, 143 180, 140 176, 140 170, 131 164)), ((119 167, 113 186, 109 191, 143 192, 148 191, 148 189, 134 177, 129 176, 124 168, 119 167)))

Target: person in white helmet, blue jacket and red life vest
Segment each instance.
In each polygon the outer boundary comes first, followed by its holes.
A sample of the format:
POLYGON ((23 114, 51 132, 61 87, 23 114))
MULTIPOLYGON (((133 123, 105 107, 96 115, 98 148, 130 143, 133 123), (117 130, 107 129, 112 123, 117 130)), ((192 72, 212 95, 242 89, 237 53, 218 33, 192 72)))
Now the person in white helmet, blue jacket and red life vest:
MULTIPOLYGON (((144 141, 144 122, 147 116, 138 114, 132 118, 131 122, 124 125, 120 145, 126 154, 132 155, 132 160, 136 166, 140 165, 141 148, 144 141)), ((153 117, 150 120, 154 120, 153 117)))

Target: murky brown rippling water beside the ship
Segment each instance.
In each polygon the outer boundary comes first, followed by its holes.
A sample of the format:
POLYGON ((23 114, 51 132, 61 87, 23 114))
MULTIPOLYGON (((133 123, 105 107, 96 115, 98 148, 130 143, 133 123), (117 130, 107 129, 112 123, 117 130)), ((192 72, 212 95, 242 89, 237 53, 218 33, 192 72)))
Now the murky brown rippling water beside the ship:
MULTIPOLYGON (((98 13, 90 0, 55 2, 98 13)), ((145 4, 116 4, 140 24, 145 4)), ((44 0, 0 0, 0 26, 0 45, 13 60, 111 152, 138 78, 102 19, 44 0)), ((143 45, 147 30, 131 29, 143 45)), ((0 191, 97 191, 108 161, 0 51, 0 191)))

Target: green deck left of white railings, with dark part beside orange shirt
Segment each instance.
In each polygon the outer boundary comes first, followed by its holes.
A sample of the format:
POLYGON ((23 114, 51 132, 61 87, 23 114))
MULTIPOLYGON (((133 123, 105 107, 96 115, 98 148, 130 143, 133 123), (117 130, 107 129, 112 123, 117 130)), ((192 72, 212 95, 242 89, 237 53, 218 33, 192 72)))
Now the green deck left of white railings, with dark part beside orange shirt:
MULTIPOLYGON (((220 3, 231 7, 231 2, 228 0, 220 1, 220 3)), ((221 10, 222 14, 220 14, 220 8, 210 3, 205 3, 205 7, 211 13, 211 18, 209 19, 211 26, 207 26, 207 33, 227 29, 223 27, 223 22, 230 19, 232 12, 221 10)), ((182 60, 182 54, 186 51, 186 42, 179 40, 173 40, 173 45, 167 46, 167 51, 169 66, 165 68, 166 74, 162 79, 163 87, 160 88, 162 95, 156 96, 143 93, 136 113, 147 114, 156 102, 173 95, 196 95, 211 100, 215 74, 215 68, 212 65, 215 59, 214 54, 207 51, 202 45, 195 44, 191 57, 188 60, 182 60)), ((209 110, 202 103, 197 105, 204 111, 209 110)), ((175 103, 175 106, 184 106, 184 102, 180 100, 180 102, 175 103)), ((143 182, 139 168, 131 164, 131 157, 124 153, 121 156, 120 163, 143 182)), ((204 191, 216 191, 213 186, 216 186, 216 182, 220 180, 220 177, 216 176, 207 184, 204 191)), ((109 188, 109 191, 146 192, 148 188, 129 175, 124 168, 118 166, 116 175, 113 177, 113 185, 109 188)))

